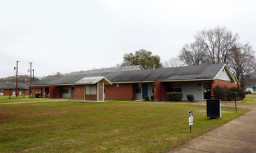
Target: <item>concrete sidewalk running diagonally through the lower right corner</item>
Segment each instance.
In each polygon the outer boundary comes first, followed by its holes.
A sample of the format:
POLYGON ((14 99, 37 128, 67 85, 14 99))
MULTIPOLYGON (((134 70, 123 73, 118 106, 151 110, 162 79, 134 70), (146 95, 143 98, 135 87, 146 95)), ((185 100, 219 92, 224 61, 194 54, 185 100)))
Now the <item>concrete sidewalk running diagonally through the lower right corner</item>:
POLYGON ((170 152, 256 152, 256 109, 170 152))

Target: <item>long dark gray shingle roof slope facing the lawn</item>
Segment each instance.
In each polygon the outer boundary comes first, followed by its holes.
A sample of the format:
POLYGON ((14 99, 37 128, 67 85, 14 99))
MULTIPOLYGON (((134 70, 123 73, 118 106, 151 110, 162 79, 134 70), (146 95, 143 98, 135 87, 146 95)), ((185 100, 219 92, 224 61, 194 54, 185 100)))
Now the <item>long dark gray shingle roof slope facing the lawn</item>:
POLYGON ((84 77, 104 76, 112 83, 134 81, 172 81, 190 79, 214 79, 225 64, 197 65, 187 67, 167 67, 156 70, 136 70, 119 72, 102 72, 95 74, 67 75, 64 77, 50 77, 32 83, 31 86, 74 84, 84 77))

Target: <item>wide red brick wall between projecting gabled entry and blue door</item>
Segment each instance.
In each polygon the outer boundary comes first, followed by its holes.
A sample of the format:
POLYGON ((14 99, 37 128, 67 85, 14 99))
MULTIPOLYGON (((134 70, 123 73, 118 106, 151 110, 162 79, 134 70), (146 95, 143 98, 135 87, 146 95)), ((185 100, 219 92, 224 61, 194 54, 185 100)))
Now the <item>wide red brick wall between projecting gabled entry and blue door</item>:
POLYGON ((134 84, 135 83, 119 83, 119 87, 116 87, 116 83, 114 83, 113 85, 106 85, 105 99, 135 99, 134 84))

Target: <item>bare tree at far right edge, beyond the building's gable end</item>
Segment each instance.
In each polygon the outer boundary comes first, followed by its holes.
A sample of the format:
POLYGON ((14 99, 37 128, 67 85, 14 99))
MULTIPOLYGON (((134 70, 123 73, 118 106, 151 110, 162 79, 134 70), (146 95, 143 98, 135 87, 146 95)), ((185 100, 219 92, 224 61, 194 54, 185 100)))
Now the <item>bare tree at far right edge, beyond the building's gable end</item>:
POLYGON ((229 68, 241 83, 241 87, 246 85, 246 81, 255 76, 255 51, 248 43, 233 47, 233 54, 229 58, 229 68))

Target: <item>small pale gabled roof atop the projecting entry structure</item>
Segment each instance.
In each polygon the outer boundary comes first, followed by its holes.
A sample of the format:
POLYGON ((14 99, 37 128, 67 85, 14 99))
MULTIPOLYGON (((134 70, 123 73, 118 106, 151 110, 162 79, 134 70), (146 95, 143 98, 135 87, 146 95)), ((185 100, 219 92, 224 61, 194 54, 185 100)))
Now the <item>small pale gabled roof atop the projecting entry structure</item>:
POLYGON ((75 84, 95 84, 98 81, 104 81, 105 85, 112 85, 112 82, 106 79, 103 76, 97 76, 97 77, 84 77, 83 79, 80 79, 79 81, 76 81, 75 84))

